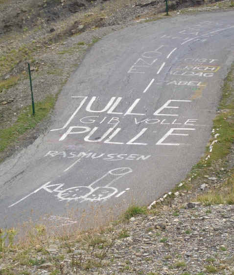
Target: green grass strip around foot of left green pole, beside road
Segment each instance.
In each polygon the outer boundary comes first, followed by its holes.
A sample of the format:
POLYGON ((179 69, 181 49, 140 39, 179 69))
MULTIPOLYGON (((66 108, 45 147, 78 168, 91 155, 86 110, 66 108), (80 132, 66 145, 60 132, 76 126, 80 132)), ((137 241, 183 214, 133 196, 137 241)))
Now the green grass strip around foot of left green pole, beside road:
POLYGON ((0 152, 24 134, 27 130, 35 128, 54 107, 57 96, 49 95, 43 101, 35 103, 36 115, 32 115, 31 106, 23 108, 17 121, 9 128, 0 132, 0 152))

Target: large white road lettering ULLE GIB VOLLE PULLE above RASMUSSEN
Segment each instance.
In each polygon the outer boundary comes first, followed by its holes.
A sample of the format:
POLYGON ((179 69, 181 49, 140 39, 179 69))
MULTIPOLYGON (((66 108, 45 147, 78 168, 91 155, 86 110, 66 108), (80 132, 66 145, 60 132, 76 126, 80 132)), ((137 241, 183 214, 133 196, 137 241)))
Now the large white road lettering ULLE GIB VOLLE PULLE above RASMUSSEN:
MULTIPOLYGON (((137 107, 137 105, 140 102, 140 98, 137 98, 136 100, 134 100, 134 102, 129 106, 127 106, 126 110, 116 110, 118 104, 120 103, 120 101, 122 100, 122 97, 111 97, 111 99, 109 100, 109 102, 106 103, 106 105, 102 106, 101 110, 94 110, 94 108, 92 107, 94 102, 96 101, 97 97, 93 96, 91 99, 88 99, 88 96, 77 96, 76 98, 81 99, 80 104, 78 105, 77 109, 75 110, 75 112, 70 116, 70 118, 68 119, 68 121, 65 123, 65 125, 62 128, 59 129, 53 129, 51 131, 56 131, 56 130, 63 130, 65 129, 67 126, 70 125, 71 121, 75 118, 75 116, 77 115, 78 111, 81 109, 81 107, 86 103, 86 100, 88 100, 86 107, 84 108, 86 112, 89 113, 105 113, 105 114, 115 114, 115 115, 122 115, 123 117, 125 117, 126 115, 128 116, 145 116, 146 114, 142 113, 136 113, 134 112, 134 109, 137 107)), ((179 109, 179 106, 175 106, 175 103, 177 105, 181 104, 181 103, 189 103, 191 102, 191 100, 175 100, 175 99, 170 99, 167 100, 163 106, 161 106, 159 109, 154 110, 152 115, 155 116, 178 116, 178 114, 176 114, 175 112, 173 112, 175 109, 179 109), (173 105, 174 104, 174 105, 173 105)), ((88 116, 83 117, 83 118, 88 118, 88 116)), ((84 119, 82 118, 82 123, 84 123, 84 119)), ((110 120, 112 121, 113 118, 110 120)), ((195 119, 196 120, 196 119, 195 119)), ((187 121, 195 121, 194 119, 188 119, 187 121)), ((111 124, 113 122, 108 122, 108 124, 111 124)), ((137 120, 135 119, 135 122, 137 120)), ((144 121, 147 124, 156 124, 159 122, 159 120, 155 119, 149 119, 146 118, 146 120, 141 120, 140 122, 144 121)), ((87 121, 88 123, 92 123, 94 121, 87 121)), ((59 141, 63 141, 65 140, 68 136, 69 137, 74 137, 74 135, 78 135, 78 138, 81 136, 83 138, 84 141, 86 142, 103 142, 106 144, 126 144, 126 145, 147 145, 148 142, 142 142, 139 141, 138 139, 142 138, 141 136, 145 135, 146 132, 148 132, 148 128, 142 128, 140 129, 136 134, 134 134, 134 136, 130 137, 128 140, 122 141, 117 141, 114 140, 114 138, 117 138, 116 136, 119 136, 119 132, 121 132, 122 128, 117 126, 117 123, 119 122, 119 118, 115 117, 114 118, 114 123, 115 126, 114 127, 110 127, 109 129, 105 130, 104 133, 100 134, 100 127, 89 127, 89 126, 70 126, 67 131, 61 136, 61 138, 59 138, 59 141), (99 133, 98 138, 95 138, 94 135, 96 133, 99 133), (85 135, 84 135, 85 134, 85 135)), ((113 123, 113 124, 114 124, 113 123)), ((138 122, 137 122, 138 124, 138 122)), ((168 124, 168 123, 162 123, 161 124, 168 124)), ((175 121, 173 122, 173 124, 179 124, 176 123, 175 121)), ((191 125, 191 123, 185 123, 186 125, 191 125)), ((188 131, 190 130, 195 130, 194 128, 171 128, 170 130, 167 130, 164 134, 164 136, 162 138, 159 138, 159 140, 156 140, 155 144, 156 145, 174 145, 174 146, 178 146, 180 145, 179 142, 163 142, 165 138, 169 138, 171 136, 188 136, 188 131), (184 132, 186 131, 186 132, 184 132)))

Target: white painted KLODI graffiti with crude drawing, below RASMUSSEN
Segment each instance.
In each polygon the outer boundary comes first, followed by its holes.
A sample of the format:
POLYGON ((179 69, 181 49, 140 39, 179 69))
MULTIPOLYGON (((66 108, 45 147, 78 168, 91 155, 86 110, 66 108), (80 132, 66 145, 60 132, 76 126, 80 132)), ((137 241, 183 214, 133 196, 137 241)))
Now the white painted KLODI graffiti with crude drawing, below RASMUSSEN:
POLYGON ((46 191, 48 193, 56 194, 55 197, 57 197, 59 201, 67 202, 99 202, 107 200, 113 196, 118 198, 126 191, 130 190, 130 188, 125 188, 123 191, 119 192, 118 189, 111 186, 111 184, 117 182, 119 179, 132 172, 133 170, 129 167, 112 169, 105 173, 102 177, 95 180, 93 183, 90 183, 88 186, 78 185, 64 188, 65 183, 51 184, 51 182, 48 182, 8 207, 12 207, 23 202, 25 199, 38 193, 39 191, 46 191))

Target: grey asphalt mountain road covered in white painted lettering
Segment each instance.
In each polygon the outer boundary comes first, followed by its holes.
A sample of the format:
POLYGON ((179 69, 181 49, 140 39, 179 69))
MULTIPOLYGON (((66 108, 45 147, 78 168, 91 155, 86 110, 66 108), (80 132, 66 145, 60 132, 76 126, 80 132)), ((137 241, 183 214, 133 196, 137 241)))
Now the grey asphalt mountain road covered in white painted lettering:
POLYGON ((98 41, 50 131, 0 165, 0 227, 96 225, 187 175, 234 60, 234 11, 139 23, 98 41))

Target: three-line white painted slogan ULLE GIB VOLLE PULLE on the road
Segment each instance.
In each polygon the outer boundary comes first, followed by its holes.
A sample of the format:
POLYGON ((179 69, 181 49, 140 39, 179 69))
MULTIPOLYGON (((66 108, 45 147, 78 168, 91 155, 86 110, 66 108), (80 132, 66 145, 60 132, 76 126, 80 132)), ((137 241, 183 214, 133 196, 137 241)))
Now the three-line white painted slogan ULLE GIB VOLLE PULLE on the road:
MULTIPOLYGON (((116 110, 118 104, 122 100, 122 97, 111 97, 109 99, 109 102, 104 106, 102 110, 94 110, 92 109, 92 105, 97 99, 96 96, 93 96, 89 98, 88 96, 76 96, 76 98, 81 99, 77 109, 75 112, 70 116, 69 120, 66 122, 66 124, 59 129, 53 129, 51 131, 57 131, 57 130, 65 130, 65 133, 61 135, 59 138, 59 141, 66 140, 69 137, 78 137, 82 138, 85 142, 103 142, 106 144, 126 144, 126 145, 147 145, 148 141, 142 141, 142 138, 147 137, 147 133, 149 132, 148 127, 144 127, 136 131, 134 131, 134 134, 132 134, 130 131, 125 131, 125 135, 121 137, 121 131, 122 128, 117 127, 118 123, 120 122, 119 117, 111 118, 111 120, 107 120, 107 124, 114 124, 107 130, 100 129, 100 126, 90 127, 90 126, 82 126, 77 125, 77 122, 75 123, 75 126, 70 126, 71 121, 77 116, 78 111, 81 109, 81 107, 84 108, 84 110, 88 113, 105 113, 107 114, 115 114, 115 115, 122 115, 122 119, 125 117, 133 117, 135 120, 135 123, 138 124, 140 122, 145 122, 148 126, 155 125, 159 122, 162 126, 163 124, 169 124, 169 122, 166 122, 165 120, 157 119, 157 117, 173 117, 174 120, 172 124, 181 125, 180 122, 176 122, 175 118, 179 116, 175 110, 180 109, 181 104, 189 104, 191 100, 175 100, 170 99, 167 100, 164 105, 162 105, 159 109, 153 111, 153 116, 155 118, 145 118, 146 114, 142 111, 142 113, 136 113, 134 112, 134 109, 137 107, 137 105, 140 103, 140 98, 137 98, 133 101, 133 103, 125 110, 116 110), (85 105, 84 105, 85 104, 85 105), (179 105, 179 106, 178 106, 179 105), (138 118, 139 117, 139 118, 138 118), (142 117, 140 119, 140 117, 142 117), (69 126, 69 127, 68 127, 69 126), (66 130, 67 129, 67 130, 66 130), (100 133, 101 132, 101 133, 100 133), (98 137, 95 138, 95 136, 98 133, 98 137), (127 135, 127 137, 125 137, 127 135), (129 135, 132 135, 129 137, 129 135), (120 140, 118 140, 118 137, 120 136, 120 140), (125 140, 123 140, 123 138, 125 140)), ((90 121, 90 119, 87 120, 87 116, 80 119, 83 123, 92 124, 94 121, 90 121), (84 119, 85 118, 85 119, 84 119)), ((106 116, 104 120, 106 119, 106 116)), ((186 119, 184 122, 185 126, 193 126, 194 123, 197 121, 197 119, 186 119)), ((102 122, 102 121, 101 121, 102 122)), ((176 125, 175 125, 176 126, 176 125)), ((175 127, 174 126, 174 127, 175 127)), ((195 130, 194 128, 188 128, 188 127, 181 127, 181 128, 171 128, 167 129, 164 133, 164 136, 162 138, 159 138, 158 140, 155 140, 156 145, 172 145, 172 146, 178 146, 180 145, 179 142, 164 142, 165 139, 170 138, 171 136, 188 136, 190 131, 195 130)))

